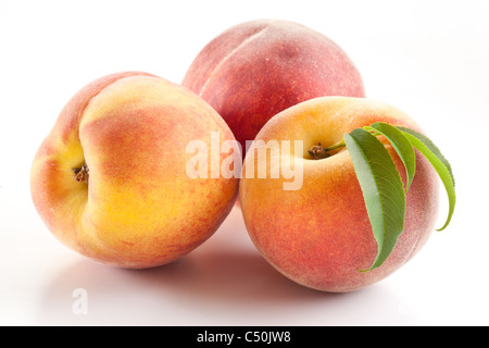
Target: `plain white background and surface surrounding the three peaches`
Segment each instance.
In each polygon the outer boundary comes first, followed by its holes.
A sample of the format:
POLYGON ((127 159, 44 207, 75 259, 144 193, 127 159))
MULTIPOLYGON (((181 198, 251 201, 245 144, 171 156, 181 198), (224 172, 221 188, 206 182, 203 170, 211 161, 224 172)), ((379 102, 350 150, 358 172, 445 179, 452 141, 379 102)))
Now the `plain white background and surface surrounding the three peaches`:
POLYGON ((488 17, 489 2, 472 0, 0 0, 0 324, 489 324, 488 17), (254 18, 324 33, 353 60, 368 98, 425 128, 456 178, 449 228, 387 279, 344 295, 279 275, 239 210, 203 246, 154 270, 100 265, 55 240, 32 204, 29 169, 65 102, 118 71, 179 83, 209 40, 254 18), (87 315, 72 310, 77 288, 87 315))

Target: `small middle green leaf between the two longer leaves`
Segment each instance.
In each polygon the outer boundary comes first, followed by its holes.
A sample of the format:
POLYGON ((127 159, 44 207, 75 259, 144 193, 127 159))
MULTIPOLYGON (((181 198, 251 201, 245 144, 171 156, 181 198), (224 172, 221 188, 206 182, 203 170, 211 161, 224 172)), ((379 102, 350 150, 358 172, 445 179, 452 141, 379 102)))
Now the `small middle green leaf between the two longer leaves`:
POLYGON ((398 156, 401 159, 402 163, 404 163, 408 179, 405 192, 408 192, 411 184, 413 183, 414 174, 416 173, 416 153, 414 152, 414 148, 411 145, 410 140, 400 129, 387 123, 374 123, 369 127, 364 127, 364 129, 372 129, 384 135, 398 152, 398 156))

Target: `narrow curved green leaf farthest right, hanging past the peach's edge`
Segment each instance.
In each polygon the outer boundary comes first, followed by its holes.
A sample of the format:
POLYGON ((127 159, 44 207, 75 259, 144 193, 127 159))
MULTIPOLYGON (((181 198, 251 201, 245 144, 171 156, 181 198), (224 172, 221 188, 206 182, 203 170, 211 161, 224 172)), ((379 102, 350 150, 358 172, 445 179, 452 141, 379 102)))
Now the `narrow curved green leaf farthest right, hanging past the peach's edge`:
POLYGON ((453 212, 455 210, 455 178, 453 177, 452 166, 440 152, 440 150, 435 146, 435 144, 432 144, 432 141, 428 139, 428 137, 410 128, 398 128, 404 132, 404 135, 408 137, 411 144, 428 159, 444 185, 449 198, 449 212, 443 226, 438 229, 442 231, 450 224, 453 212))

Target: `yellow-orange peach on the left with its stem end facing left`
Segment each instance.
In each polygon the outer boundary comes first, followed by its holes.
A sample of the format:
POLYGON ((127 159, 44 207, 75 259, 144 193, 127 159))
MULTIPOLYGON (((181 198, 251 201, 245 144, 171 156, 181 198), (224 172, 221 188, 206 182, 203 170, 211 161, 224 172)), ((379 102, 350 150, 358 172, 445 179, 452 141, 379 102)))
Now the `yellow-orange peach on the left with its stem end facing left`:
MULTIPOLYGON (((32 166, 34 204, 65 246, 102 263, 151 268, 193 250, 234 206, 238 181, 191 179, 190 140, 234 136, 185 87, 140 72, 99 78, 64 107, 32 166)), ((223 158, 225 154, 223 154, 223 158)))

